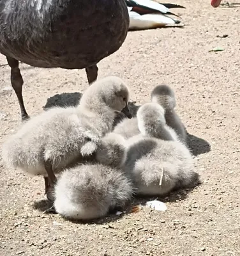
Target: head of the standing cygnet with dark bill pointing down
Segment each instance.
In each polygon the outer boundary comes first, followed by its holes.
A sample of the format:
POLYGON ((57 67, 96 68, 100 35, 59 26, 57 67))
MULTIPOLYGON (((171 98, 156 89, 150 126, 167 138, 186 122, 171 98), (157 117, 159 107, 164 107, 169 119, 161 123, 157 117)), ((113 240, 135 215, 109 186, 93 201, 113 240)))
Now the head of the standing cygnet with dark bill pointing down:
POLYGON ((80 105, 87 105, 88 108, 101 108, 103 104, 114 112, 123 112, 128 118, 131 113, 128 109, 130 92, 124 81, 116 76, 108 76, 99 79, 87 88, 80 105))

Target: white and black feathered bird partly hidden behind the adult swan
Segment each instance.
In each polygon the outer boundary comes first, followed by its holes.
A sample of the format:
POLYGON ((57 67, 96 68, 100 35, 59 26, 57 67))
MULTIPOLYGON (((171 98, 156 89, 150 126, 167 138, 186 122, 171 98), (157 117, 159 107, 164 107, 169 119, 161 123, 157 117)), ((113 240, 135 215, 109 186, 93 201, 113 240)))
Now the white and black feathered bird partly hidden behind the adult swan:
POLYGON ((181 23, 180 20, 167 16, 176 14, 170 12, 171 8, 185 8, 178 4, 157 3, 151 0, 125 0, 128 6, 128 13, 130 17, 130 26, 128 30, 142 30, 163 28, 169 25, 176 25, 181 23))

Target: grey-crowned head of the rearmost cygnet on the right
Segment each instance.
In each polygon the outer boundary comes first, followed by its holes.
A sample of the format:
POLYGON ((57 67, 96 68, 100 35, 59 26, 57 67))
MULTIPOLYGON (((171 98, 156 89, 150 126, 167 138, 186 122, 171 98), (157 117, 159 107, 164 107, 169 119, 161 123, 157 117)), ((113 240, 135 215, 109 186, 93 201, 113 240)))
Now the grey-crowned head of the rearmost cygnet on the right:
POLYGON ((174 109, 176 107, 175 93, 165 84, 158 85, 153 89, 151 100, 160 104, 164 109, 174 109))

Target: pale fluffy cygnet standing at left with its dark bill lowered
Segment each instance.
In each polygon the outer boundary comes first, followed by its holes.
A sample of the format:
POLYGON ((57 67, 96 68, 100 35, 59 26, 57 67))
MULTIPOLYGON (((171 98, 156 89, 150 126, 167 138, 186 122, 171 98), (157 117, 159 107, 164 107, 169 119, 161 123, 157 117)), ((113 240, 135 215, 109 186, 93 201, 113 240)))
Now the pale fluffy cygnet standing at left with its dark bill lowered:
POLYGON ((54 172, 96 150, 100 138, 112 130, 116 112, 131 117, 128 100, 122 79, 100 79, 87 88, 77 108, 52 108, 22 124, 4 143, 3 160, 11 168, 49 177, 50 186, 54 172))

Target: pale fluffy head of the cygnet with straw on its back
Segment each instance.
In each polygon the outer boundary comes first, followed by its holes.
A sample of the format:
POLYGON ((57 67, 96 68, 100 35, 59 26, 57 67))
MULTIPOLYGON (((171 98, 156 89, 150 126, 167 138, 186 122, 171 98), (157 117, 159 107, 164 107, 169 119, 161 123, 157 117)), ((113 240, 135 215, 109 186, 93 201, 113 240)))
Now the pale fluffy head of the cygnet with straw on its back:
POLYGON ((157 103, 146 103, 137 111, 139 131, 143 135, 156 136, 166 124, 165 111, 157 103))

